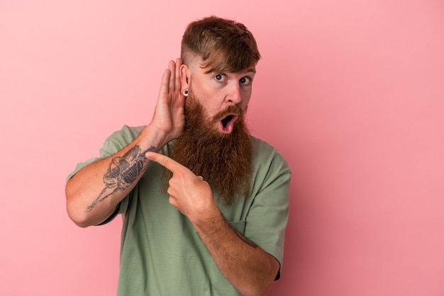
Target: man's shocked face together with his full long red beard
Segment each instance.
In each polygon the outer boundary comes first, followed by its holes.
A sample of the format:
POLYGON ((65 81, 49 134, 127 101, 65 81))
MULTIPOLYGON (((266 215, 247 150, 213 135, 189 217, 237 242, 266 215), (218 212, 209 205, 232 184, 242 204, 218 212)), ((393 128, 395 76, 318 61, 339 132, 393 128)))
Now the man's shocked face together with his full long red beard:
MULTIPOLYGON (((209 182, 226 205, 250 188, 252 141, 245 123, 254 69, 192 74, 185 101, 185 127, 170 157, 209 182)), ((187 81, 185 81, 187 82, 187 81)), ((165 170, 165 184, 171 173, 165 170)))

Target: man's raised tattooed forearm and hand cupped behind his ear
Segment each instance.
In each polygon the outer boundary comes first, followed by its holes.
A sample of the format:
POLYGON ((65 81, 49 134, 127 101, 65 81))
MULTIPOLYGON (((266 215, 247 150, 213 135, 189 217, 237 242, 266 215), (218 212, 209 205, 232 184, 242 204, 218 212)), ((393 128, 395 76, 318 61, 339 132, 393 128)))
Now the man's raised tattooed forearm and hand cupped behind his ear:
POLYGON ((77 225, 104 222, 143 176, 148 164, 145 152, 159 151, 182 135, 185 97, 181 93, 181 66, 182 60, 177 59, 165 69, 152 121, 140 135, 115 154, 85 166, 67 182, 67 211, 77 225), (125 180, 124 186, 121 180, 125 180))

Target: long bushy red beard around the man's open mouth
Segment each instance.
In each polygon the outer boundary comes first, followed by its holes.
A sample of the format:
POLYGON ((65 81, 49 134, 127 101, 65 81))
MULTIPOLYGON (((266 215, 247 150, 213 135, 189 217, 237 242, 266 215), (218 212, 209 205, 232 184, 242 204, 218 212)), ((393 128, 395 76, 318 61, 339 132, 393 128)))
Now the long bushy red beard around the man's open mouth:
MULTIPOLYGON (((170 157, 207 181, 213 193, 231 205, 236 196, 246 198, 250 189, 252 142, 245 124, 245 110, 231 106, 206 120, 202 106, 190 91, 185 106, 184 132, 170 146, 170 157), (216 123, 237 113, 233 132, 222 134, 216 123)), ((171 173, 164 171, 165 186, 171 173)))

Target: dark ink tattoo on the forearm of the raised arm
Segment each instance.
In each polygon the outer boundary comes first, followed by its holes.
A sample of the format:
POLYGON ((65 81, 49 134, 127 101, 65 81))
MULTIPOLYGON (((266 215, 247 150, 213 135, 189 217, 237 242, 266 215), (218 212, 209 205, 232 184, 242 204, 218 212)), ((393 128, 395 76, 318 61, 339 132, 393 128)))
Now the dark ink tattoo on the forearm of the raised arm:
POLYGON ((111 159, 108 171, 104 174, 105 188, 101 190, 99 196, 87 207, 86 212, 94 209, 98 203, 109 198, 117 190, 125 190, 131 186, 137 180, 140 173, 143 173, 148 166, 150 161, 145 158, 145 153, 150 151, 155 151, 155 147, 151 146, 149 149, 142 151, 138 145, 135 145, 123 156, 116 156, 111 159), (104 195, 109 189, 112 189, 111 193, 104 195))

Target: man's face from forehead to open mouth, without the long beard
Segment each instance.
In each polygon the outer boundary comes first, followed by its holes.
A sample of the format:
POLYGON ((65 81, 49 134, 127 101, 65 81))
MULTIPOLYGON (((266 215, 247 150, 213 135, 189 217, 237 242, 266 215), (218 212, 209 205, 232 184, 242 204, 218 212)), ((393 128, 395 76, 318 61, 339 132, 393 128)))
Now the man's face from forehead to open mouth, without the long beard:
POLYGON ((254 67, 238 73, 206 73, 206 69, 194 67, 189 91, 214 130, 227 135, 233 132, 240 111, 250 101, 254 76, 254 67))

